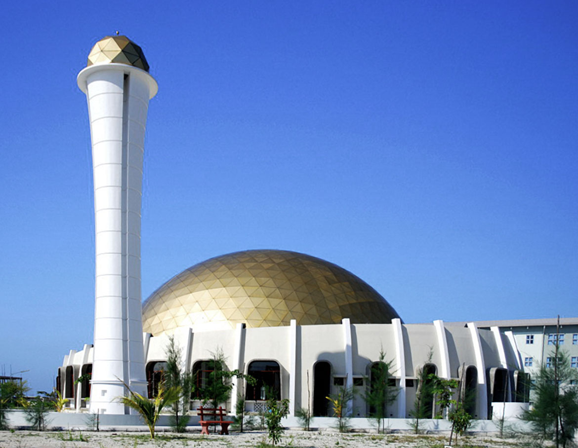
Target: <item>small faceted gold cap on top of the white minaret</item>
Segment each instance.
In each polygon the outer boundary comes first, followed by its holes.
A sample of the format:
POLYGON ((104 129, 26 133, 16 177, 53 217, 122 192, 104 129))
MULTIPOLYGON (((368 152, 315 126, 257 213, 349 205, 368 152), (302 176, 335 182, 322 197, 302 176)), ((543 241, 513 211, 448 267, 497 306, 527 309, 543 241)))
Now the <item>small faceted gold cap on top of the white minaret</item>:
POLYGON ((86 66, 110 62, 132 65, 149 71, 149 64, 144 58, 142 49, 127 36, 106 36, 99 40, 90 50, 86 66))

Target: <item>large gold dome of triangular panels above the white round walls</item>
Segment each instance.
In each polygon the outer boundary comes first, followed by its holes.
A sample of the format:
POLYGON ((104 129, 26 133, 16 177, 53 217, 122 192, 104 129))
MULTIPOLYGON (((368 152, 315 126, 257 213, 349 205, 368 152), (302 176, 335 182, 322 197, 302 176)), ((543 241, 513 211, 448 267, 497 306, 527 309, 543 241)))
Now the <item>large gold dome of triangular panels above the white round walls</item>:
POLYGON ((351 272, 303 253, 257 250, 195 264, 143 305, 143 331, 340 323, 391 323, 397 312, 351 272))

